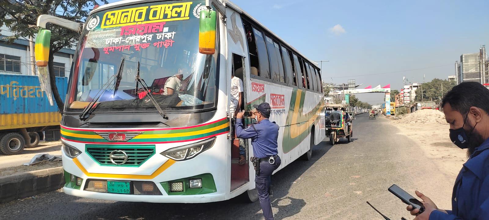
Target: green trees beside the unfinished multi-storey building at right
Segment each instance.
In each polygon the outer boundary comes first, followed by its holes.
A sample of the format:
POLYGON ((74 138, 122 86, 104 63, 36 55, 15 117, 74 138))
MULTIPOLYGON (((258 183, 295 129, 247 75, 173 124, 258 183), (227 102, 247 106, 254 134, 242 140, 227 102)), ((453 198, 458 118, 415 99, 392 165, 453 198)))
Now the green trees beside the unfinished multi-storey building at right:
POLYGON ((442 79, 433 79, 431 82, 423 83, 421 87, 416 89, 416 102, 422 101, 436 101, 440 102, 445 93, 456 86, 455 81, 448 81, 442 79))

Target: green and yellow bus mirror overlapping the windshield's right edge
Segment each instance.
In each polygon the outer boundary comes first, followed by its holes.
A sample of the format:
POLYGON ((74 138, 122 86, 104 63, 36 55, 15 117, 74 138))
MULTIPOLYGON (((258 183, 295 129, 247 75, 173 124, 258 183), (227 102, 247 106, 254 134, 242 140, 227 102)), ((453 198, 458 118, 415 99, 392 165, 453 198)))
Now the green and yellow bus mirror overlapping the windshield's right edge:
POLYGON ((216 12, 200 11, 199 52, 201 54, 216 53, 216 12))

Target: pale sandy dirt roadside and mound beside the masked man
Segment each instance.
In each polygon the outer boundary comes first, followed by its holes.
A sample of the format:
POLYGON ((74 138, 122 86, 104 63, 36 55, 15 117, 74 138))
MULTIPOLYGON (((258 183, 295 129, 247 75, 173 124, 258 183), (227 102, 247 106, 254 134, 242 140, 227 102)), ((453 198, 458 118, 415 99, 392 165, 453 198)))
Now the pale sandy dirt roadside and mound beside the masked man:
POLYGON ((418 110, 403 117, 392 117, 392 123, 416 141, 426 155, 441 164, 439 169, 457 177, 462 164, 467 161, 467 150, 455 146, 448 136, 450 126, 445 115, 438 110, 418 110))

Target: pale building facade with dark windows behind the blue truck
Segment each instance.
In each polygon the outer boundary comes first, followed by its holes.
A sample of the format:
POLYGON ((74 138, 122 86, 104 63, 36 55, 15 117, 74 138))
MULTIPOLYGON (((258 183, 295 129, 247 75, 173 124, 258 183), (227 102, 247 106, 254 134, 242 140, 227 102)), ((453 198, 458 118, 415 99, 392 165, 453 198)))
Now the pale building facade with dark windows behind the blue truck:
MULTIPOLYGON (((12 36, 6 26, 0 27, 0 74, 22 74, 36 75, 32 71, 35 59, 30 56, 29 41, 17 39, 8 44, 4 37, 12 36)), ((54 54, 54 74, 60 77, 69 75, 71 61, 73 60, 73 49, 63 48, 54 54)))

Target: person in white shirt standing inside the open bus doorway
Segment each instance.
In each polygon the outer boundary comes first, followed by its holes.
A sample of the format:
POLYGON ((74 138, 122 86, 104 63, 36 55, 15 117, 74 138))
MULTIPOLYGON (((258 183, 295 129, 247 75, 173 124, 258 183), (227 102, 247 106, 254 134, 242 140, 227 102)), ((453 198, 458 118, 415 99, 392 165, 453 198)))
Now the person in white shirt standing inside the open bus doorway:
MULTIPOLYGON (((232 118, 236 118, 236 114, 241 111, 243 106, 243 80, 231 75, 231 105, 229 105, 229 112, 232 118)), ((238 161, 239 165, 246 163, 246 151, 244 150, 244 140, 239 138, 240 143, 240 158, 238 161)))

